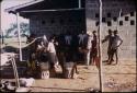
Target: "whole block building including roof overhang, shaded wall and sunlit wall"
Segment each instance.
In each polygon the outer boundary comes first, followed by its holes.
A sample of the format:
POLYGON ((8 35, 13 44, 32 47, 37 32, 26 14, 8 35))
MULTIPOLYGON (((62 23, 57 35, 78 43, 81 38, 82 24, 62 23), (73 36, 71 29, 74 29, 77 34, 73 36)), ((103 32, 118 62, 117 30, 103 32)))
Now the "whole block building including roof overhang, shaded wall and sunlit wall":
MULTIPOLYGON (((135 0, 102 0, 102 38, 109 30, 118 30, 124 43, 119 48, 119 60, 136 60, 136 2, 135 0)), ((34 0, 7 9, 30 19, 30 32, 37 36, 62 32, 92 33, 99 28, 99 0, 34 0)), ((106 59, 107 43, 103 44, 106 59)))

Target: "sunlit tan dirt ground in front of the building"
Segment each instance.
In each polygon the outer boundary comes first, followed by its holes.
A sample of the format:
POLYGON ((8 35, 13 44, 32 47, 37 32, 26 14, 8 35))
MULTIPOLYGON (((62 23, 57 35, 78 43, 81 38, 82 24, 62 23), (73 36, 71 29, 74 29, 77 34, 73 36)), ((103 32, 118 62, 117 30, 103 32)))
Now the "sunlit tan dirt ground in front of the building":
MULTIPOLYGON (((99 70, 95 66, 78 66, 78 79, 36 79, 32 92, 88 92, 100 89, 99 70)), ((104 92, 136 92, 136 61, 119 61, 118 65, 103 65, 104 92)))

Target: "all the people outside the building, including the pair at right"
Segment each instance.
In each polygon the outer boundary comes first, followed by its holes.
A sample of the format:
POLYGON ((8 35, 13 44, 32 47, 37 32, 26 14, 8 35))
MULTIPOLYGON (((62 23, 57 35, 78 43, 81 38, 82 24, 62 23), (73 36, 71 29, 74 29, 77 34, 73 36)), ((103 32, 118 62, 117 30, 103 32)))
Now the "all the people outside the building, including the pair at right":
MULTIPOLYGON (((35 35, 32 34, 27 42, 31 43, 34 38, 35 35)), ((114 61, 113 56, 115 55, 117 63, 117 48, 123 40, 117 35, 117 31, 112 32, 111 30, 109 30, 109 35, 105 36, 102 43, 106 40, 109 40, 107 61, 111 65, 114 61)), ((87 34, 83 31, 81 33, 67 32, 59 35, 52 35, 49 39, 44 35, 43 40, 31 45, 30 53, 30 61, 37 57, 38 61, 49 61, 52 68, 60 63, 62 72, 65 62, 75 62, 76 72, 78 72, 77 61, 84 61, 87 66, 95 63, 99 53, 99 38, 96 31, 93 31, 92 34, 87 34), (34 57, 32 54, 35 53, 37 55, 34 57), (44 56, 45 53, 46 56, 44 56)))

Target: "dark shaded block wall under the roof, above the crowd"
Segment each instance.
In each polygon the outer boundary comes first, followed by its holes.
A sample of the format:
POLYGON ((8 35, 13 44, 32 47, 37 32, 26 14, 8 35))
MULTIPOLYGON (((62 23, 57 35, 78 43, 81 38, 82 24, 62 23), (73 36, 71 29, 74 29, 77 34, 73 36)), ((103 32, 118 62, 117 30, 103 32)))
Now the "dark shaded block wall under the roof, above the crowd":
POLYGON ((84 13, 81 11, 46 12, 33 15, 30 20, 30 31, 37 36, 64 32, 79 32, 85 28, 84 13))

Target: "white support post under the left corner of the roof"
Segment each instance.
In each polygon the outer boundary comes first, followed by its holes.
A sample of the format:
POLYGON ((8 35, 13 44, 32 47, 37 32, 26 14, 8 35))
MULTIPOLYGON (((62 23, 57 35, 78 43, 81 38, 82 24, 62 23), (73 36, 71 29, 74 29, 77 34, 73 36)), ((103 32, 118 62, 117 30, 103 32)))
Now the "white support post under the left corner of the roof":
POLYGON ((22 48, 21 48, 21 30, 20 30, 20 21, 19 21, 19 12, 16 13, 16 23, 18 23, 18 38, 19 38, 19 48, 20 48, 20 61, 22 61, 22 48))

